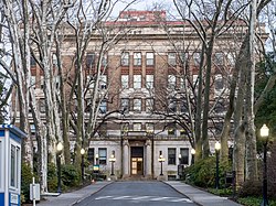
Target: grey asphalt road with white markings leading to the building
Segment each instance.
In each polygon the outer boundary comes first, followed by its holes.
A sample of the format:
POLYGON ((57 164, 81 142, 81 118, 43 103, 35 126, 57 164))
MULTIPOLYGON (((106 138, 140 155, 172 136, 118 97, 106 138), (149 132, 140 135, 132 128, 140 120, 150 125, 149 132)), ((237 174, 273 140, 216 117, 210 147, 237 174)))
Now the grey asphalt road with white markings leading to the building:
POLYGON ((187 196, 162 182, 115 182, 76 206, 194 206, 187 196))

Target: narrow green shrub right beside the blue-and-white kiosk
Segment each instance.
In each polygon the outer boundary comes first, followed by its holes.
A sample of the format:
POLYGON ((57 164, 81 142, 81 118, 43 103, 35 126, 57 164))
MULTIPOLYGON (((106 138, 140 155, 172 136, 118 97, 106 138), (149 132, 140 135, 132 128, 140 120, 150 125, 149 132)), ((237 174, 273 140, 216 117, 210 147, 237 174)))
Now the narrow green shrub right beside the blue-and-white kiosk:
POLYGON ((21 165, 21 200, 30 200, 30 184, 32 184, 32 169, 29 164, 22 162, 21 165))

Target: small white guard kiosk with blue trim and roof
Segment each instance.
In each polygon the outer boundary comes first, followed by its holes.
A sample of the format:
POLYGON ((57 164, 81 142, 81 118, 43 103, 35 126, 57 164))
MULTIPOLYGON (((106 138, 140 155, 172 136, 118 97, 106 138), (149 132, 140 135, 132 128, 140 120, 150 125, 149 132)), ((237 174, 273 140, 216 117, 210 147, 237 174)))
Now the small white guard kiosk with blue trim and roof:
POLYGON ((26 137, 12 124, 0 124, 0 205, 20 206, 21 140, 26 137))

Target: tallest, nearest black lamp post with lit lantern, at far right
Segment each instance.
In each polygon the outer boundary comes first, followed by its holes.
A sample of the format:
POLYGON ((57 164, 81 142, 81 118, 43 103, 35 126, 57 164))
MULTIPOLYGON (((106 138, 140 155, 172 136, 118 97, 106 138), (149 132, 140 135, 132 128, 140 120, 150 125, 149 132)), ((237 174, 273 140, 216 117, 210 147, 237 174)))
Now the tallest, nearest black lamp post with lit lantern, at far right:
POLYGON ((262 206, 268 205, 267 199, 267 163, 266 163, 266 154, 267 154, 267 142, 269 137, 269 128, 266 127, 266 124, 263 124, 263 127, 259 130, 261 138, 264 143, 264 172, 263 172, 263 202, 262 206))

